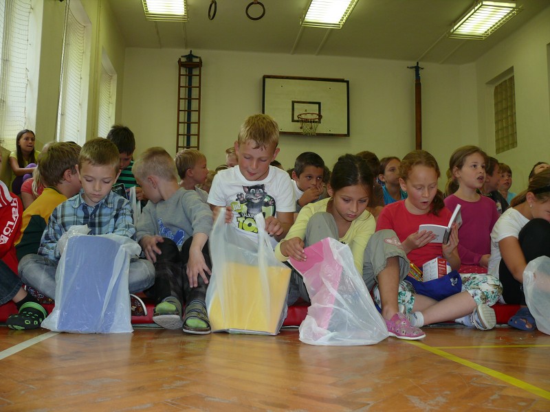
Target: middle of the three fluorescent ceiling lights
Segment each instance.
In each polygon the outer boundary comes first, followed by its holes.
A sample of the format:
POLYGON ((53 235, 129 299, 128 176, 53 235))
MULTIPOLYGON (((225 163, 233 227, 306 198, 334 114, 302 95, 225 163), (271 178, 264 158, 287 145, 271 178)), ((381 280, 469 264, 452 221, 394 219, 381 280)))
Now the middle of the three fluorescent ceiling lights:
POLYGON ((304 13, 303 26, 341 29, 358 0, 311 0, 304 13))

